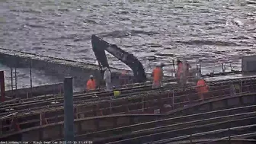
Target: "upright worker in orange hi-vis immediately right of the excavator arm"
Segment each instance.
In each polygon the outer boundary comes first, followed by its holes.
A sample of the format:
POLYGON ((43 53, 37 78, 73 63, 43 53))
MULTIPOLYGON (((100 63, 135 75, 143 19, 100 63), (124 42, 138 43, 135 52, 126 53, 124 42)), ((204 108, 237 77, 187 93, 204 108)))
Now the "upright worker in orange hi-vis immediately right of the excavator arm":
POLYGON ((164 66, 163 63, 158 63, 155 66, 155 69, 152 72, 152 76, 153 76, 153 84, 152 84, 152 88, 160 88, 162 85, 162 78, 163 78, 163 69, 162 67, 164 66))

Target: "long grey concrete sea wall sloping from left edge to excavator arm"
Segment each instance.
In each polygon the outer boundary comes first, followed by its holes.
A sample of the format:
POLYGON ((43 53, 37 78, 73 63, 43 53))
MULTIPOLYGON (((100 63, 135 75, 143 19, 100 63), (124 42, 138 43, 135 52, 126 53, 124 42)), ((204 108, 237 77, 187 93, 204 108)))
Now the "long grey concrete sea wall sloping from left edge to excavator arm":
MULTIPOLYGON (((49 56, 39 56, 34 53, 24 53, 16 50, 0 49, 0 62, 5 66, 28 68, 31 59, 31 67, 34 69, 43 70, 46 74, 56 76, 57 78, 64 78, 65 76, 72 76, 74 78, 75 87, 85 88, 85 84, 89 75, 94 75, 98 84, 102 79, 102 74, 96 65, 85 62, 75 62, 66 59, 56 59, 49 56)), ((121 69, 110 69, 113 76, 114 85, 119 85, 119 76, 121 69)), ((130 71, 130 78, 132 79, 130 71)))

